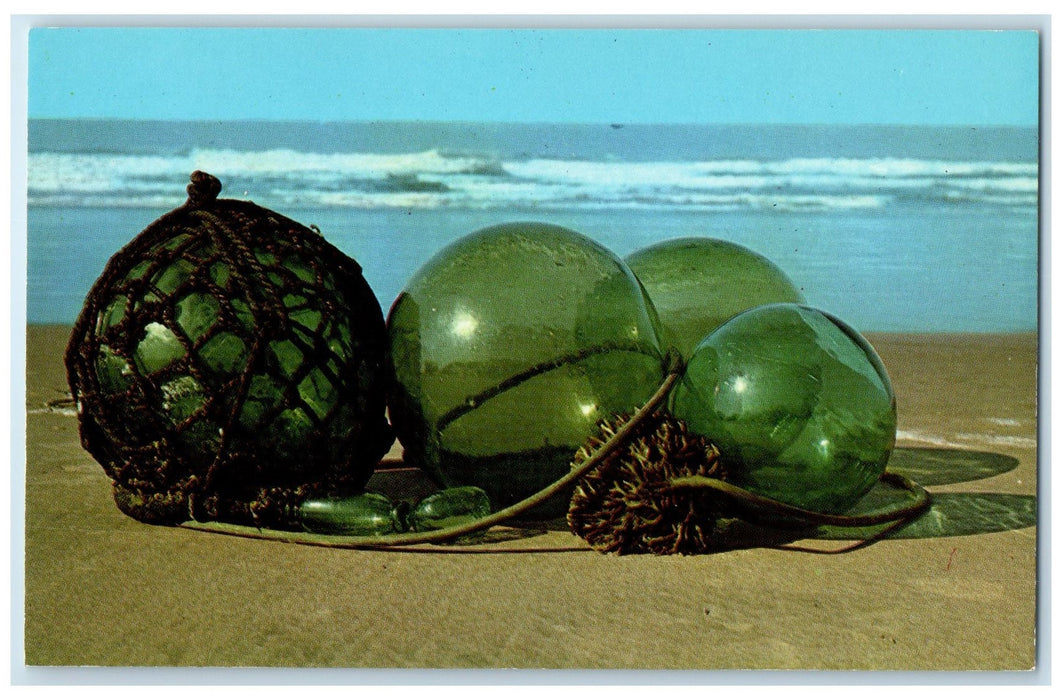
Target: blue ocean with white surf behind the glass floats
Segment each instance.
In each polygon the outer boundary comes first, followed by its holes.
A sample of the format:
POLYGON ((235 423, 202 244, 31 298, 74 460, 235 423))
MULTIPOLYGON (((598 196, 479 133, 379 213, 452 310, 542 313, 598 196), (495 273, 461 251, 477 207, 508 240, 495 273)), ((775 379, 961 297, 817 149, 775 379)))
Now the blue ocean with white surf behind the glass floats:
POLYGON ((465 122, 31 120, 28 322, 72 323, 194 170, 316 225, 384 313, 447 243, 544 221, 735 241, 863 332, 1038 328, 1035 129, 465 122))

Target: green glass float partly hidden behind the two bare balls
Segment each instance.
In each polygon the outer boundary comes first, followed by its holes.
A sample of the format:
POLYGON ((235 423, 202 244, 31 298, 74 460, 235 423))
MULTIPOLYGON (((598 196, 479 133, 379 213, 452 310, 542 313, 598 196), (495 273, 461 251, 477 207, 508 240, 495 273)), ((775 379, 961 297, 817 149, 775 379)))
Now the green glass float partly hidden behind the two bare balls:
POLYGON ((664 327, 685 359, 731 317, 763 304, 803 304, 776 264, 743 245, 715 238, 675 238, 627 256, 664 327))

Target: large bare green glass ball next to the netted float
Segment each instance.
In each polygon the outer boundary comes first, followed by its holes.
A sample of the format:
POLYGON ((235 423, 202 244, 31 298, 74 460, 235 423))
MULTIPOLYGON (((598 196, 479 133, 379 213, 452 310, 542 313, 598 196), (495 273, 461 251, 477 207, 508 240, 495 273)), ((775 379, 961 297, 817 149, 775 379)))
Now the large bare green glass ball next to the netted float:
MULTIPOLYGON (((407 459, 446 486, 512 505, 569 469, 603 417, 657 389, 651 304, 616 255, 543 223, 484 228, 441 251, 388 319, 391 420, 407 459)), ((555 499, 537 515, 556 516, 555 499)))

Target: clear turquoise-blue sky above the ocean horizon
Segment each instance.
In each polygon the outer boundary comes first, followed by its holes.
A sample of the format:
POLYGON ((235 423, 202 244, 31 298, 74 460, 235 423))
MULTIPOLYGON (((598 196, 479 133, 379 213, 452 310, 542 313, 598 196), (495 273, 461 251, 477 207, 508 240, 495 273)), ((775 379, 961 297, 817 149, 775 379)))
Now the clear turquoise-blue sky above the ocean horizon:
POLYGON ((35 29, 29 116, 1035 125, 983 30, 35 29))

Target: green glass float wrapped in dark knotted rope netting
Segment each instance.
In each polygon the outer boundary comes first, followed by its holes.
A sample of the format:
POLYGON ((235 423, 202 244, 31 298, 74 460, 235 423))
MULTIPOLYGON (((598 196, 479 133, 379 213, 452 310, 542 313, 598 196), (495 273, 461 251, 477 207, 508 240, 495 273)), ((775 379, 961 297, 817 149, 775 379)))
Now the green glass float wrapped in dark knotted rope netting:
POLYGON ((145 522, 276 525, 359 490, 393 440, 361 268, 220 190, 192 174, 188 201, 107 262, 67 347, 82 444, 145 522))

